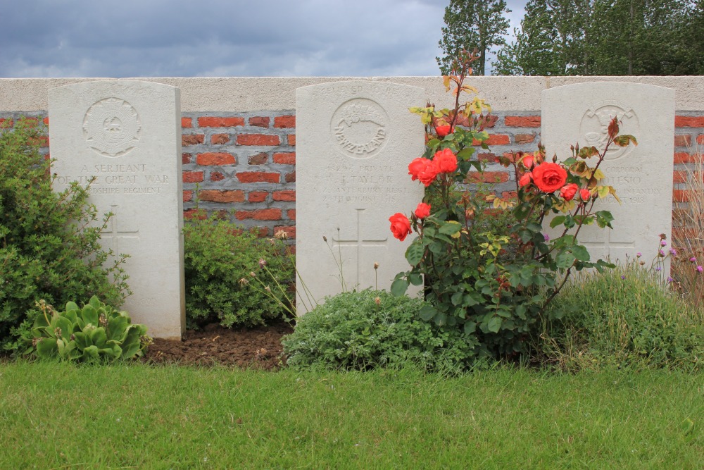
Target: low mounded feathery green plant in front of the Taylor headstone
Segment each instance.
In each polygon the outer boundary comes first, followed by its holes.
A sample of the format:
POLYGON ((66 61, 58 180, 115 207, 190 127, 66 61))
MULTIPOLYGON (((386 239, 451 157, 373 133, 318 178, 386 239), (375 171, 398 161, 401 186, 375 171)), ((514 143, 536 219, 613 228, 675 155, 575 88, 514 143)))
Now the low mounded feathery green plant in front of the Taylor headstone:
POLYGON ((366 370, 412 362, 425 369, 466 369, 477 359, 477 342, 457 328, 422 321, 425 302, 388 292, 362 290, 329 297, 296 322, 283 338, 294 369, 366 370))

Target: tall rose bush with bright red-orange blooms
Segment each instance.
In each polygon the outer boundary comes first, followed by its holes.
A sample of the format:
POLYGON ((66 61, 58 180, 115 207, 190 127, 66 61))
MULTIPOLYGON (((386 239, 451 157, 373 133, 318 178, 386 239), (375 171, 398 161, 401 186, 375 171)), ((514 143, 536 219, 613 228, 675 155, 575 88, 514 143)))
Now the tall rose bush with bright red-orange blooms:
POLYGON ((612 266, 591 260, 577 236, 585 224, 611 226, 608 211, 594 210, 597 199, 615 197, 612 187, 601 185, 604 175, 598 167, 611 145, 636 142, 618 135, 614 119, 601 151, 574 147, 562 163, 556 157, 546 161, 543 149, 499 157, 515 175, 513 198, 481 187, 470 190, 470 171, 479 173, 472 180, 484 180, 485 164, 474 153, 479 146, 488 148, 484 125, 491 112, 476 96, 460 104, 461 93, 477 92, 464 84, 474 60, 473 55, 460 57, 454 69, 458 75, 444 77, 446 89, 455 95, 454 109, 437 110, 431 104, 410 109, 426 125, 427 144, 408 173, 427 188, 421 204, 428 207, 419 205, 410 218, 394 214, 389 219, 399 240, 411 231, 418 235, 406 251, 411 268, 398 273, 391 292, 401 295, 410 284, 423 285, 427 304, 420 310, 422 319, 460 328, 467 342, 477 345, 476 357, 499 358, 525 350, 537 319, 572 272, 612 266), (589 159, 596 161, 593 167, 589 159), (548 237, 548 224, 558 235, 548 237))

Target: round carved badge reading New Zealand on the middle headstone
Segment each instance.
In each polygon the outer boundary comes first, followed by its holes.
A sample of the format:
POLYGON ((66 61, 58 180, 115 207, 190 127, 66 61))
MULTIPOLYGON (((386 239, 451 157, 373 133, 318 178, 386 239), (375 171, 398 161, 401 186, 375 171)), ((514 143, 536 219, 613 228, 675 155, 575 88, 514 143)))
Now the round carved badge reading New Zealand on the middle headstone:
POLYGON ((355 98, 345 101, 332 115, 330 130, 339 151, 357 159, 374 156, 388 140, 389 116, 378 103, 355 98))

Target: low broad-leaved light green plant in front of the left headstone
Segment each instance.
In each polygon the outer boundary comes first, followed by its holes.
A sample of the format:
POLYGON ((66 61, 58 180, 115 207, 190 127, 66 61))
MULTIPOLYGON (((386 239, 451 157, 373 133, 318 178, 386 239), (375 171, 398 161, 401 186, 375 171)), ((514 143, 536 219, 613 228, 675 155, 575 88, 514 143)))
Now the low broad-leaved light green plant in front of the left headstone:
POLYGON ((142 357, 151 344, 146 326, 132 324, 126 311, 117 311, 98 297, 91 297, 82 309, 75 302, 68 302, 65 311, 56 311, 44 301, 37 307, 41 313, 34 319, 25 354, 110 362, 142 357))

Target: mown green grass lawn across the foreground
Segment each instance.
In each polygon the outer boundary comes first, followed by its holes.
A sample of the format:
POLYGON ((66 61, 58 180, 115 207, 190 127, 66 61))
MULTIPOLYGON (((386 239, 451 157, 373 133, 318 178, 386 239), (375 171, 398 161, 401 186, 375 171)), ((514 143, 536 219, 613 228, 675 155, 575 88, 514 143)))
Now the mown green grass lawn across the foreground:
POLYGON ((0 364, 1 469, 697 469, 704 374, 0 364))

